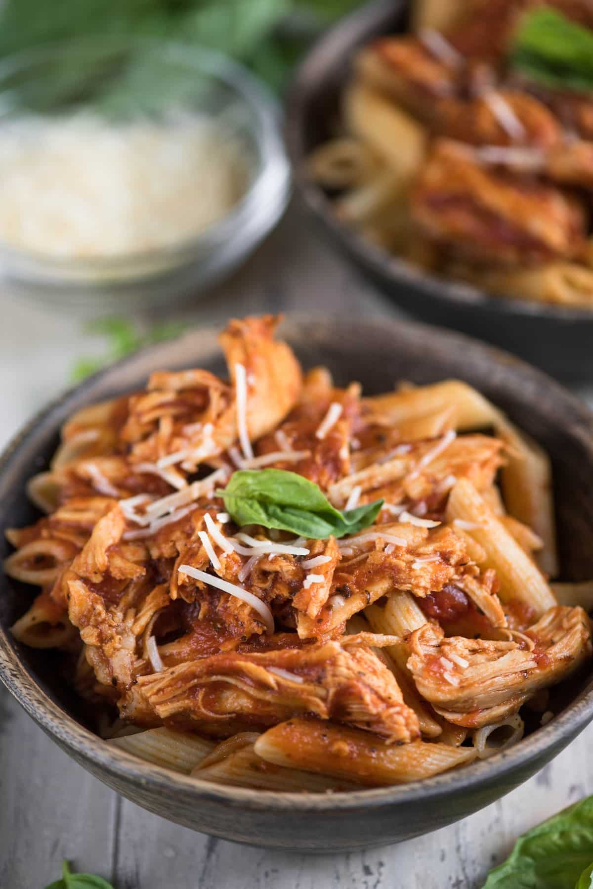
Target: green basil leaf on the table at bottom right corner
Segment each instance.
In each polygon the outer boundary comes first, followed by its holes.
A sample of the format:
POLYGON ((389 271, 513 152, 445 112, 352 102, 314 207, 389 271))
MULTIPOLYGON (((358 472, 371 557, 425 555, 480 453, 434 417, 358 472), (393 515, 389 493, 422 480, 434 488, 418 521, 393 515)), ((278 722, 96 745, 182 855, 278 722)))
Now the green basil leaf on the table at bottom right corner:
POLYGON ((519 837, 484 889, 575 889, 591 861, 593 797, 585 797, 519 837))

